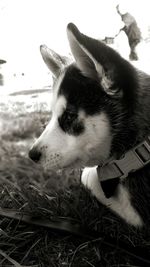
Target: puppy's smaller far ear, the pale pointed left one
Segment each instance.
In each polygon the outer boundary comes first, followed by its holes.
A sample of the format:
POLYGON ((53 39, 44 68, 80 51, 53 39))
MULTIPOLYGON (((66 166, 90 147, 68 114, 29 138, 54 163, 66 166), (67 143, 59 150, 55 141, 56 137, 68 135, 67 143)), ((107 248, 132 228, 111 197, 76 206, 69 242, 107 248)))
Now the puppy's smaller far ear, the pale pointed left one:
POLYGON ((46 45, 40 46, 40 52, 49 70, 57 77, 60 71, 68 63, 67 58, 58 55, 52 49, 49 49, 46 45))

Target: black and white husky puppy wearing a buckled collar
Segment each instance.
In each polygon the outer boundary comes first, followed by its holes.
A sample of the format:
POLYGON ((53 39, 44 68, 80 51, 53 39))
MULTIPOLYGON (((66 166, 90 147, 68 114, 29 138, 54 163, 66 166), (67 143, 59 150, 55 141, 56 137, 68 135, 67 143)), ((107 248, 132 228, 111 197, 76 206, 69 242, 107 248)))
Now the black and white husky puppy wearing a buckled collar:
POLYGON ((140 227, 150 218, 150 76, 74 24, 67 34, 74 62, 40 47, 54 76, 52 117, 29 156, 46 170, 87 167, 83 184, 140 227))

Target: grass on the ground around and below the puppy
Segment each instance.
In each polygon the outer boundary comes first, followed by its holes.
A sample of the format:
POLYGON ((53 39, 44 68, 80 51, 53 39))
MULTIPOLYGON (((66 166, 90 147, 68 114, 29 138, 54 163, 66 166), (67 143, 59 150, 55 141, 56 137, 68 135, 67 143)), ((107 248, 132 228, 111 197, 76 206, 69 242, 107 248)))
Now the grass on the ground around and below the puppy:
POLYGON ((46 173, 28 159, 50 118, 46 101, 31 100, 0 103, 0 208, 14 211, 0 216, 0 266, 150 266, 134 256, 150 255, 149 226, 127 226, 98 203, 80 170, 46 173))

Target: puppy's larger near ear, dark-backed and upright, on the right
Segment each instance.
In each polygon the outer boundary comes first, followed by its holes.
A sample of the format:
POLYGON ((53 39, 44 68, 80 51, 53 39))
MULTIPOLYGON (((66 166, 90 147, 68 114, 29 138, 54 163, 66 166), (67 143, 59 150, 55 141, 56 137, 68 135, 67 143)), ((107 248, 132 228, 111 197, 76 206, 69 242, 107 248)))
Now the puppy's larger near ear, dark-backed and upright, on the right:
POLYGON ((67 34, 72 54, 83 75, 100 82, 107 94, 122 96, 121 75, 124 76, 127 62, 102 41, 82 34, 72 23, 67 26, 67 34))

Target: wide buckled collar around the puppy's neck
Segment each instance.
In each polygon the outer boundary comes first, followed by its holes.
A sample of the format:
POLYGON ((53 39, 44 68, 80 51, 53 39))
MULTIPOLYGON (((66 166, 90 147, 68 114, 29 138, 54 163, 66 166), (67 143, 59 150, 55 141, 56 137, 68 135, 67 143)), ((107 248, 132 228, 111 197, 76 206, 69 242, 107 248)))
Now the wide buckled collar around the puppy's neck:
POLYGON ((111 160, 102 167, 98 166, 97 174, 101 184, 105 181, 108 184, 110 180, 112 180, 112 184, 114 179, 125 179, 129 173, 143 168, 148 163, 150 163, 150 136, 144 142, 126 152, 119 160, 111 160))

